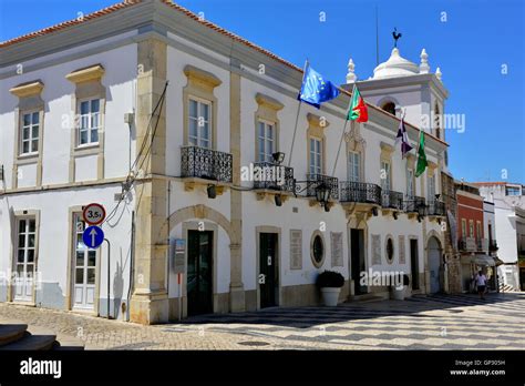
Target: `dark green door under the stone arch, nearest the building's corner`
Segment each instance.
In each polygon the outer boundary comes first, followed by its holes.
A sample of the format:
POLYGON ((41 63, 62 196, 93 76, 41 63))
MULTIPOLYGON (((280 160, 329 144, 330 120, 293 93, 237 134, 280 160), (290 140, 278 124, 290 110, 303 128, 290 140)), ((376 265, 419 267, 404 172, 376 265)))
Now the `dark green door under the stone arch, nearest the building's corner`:
POLYGON ((213 237, 210 231, 188 231, 188 316, 213 313, 213 237))

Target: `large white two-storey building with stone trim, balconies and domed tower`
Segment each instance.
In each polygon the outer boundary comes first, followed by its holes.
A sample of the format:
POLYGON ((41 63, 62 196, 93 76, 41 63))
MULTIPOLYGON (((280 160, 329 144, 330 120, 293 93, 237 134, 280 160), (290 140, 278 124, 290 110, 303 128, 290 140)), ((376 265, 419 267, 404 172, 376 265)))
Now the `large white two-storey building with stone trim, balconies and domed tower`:
POLYGON ((447 93, 424 65, 398 73, 397 50, 358 82, 370 119, 349 125, 334 167, 348 92, 298 113, 298 67, 167 1, 120 3, 0 49, 0 270, 19 273, 1 302, 101 316, 110 304, 150 324, 318 304, 325 270, 344 276, 340 301, 388 296, 360 285, 369 270, 443 290, 444 132, 430 125, 415 179, 414 152, 394 146, 399 119, 372 104, 394 101, 416 124, 447 93), (277 152, 284 184, 246 181, 277 152), (110 267, 107 244, 79 238, 91 202, 111 214, 110 267))

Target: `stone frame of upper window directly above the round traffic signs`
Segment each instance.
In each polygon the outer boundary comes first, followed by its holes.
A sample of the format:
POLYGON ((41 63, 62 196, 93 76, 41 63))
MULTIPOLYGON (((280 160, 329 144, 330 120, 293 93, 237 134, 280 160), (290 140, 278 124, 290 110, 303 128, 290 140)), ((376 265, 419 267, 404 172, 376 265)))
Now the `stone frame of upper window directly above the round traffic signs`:
POLYGON ((96 155, 96 180, 104 179, 104 132, 105 132, 105 104, 106 87, 102 83, 105 69, 102 64, 94 64, 78 69, 65 75, 75 87, 71 95, 71 111, 73 112, 73 124, 71 128, 70 170, 69 182, 75 181, 75 159, 85 155, 96 155), (79 144, 79 123, 81 103, 86 100, 100 100, 99 116, 99 142, 79 144))

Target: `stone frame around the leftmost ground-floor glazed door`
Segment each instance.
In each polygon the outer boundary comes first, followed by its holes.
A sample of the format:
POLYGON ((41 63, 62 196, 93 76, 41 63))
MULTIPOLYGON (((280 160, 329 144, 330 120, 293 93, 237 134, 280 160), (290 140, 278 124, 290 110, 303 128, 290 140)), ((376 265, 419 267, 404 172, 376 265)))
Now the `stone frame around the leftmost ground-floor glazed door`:
MULTIPOLYGON (((13 226, 14 240, 11 243, 11 272, 17 272, 17 251, 18 251, 18 234, 19 234, 19 220, 21 219, 34 219, 34 274, 39 272, 39 251, 40 251, 40 210, 21 210, 13 212, 14 223, 13 226)), ((38 277, 33 276, 33 280, 38 277)), ((18 303, 14 301, 14 283, 8 286, 8 301, 18 303)), ((37 284, 33 283, 32 288, 32 302, 23 302, 23 304, 35 305, 37 304, 37 284)))

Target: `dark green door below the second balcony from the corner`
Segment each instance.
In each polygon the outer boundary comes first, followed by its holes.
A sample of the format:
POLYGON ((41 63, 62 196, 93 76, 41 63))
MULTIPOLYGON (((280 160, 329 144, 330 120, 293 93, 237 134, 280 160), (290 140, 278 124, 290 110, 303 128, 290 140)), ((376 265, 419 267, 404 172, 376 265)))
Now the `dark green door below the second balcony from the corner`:
POLYGON ((259 234, 259 294, 260 308, 276 306, 277 280, 277 234, 259 234))

